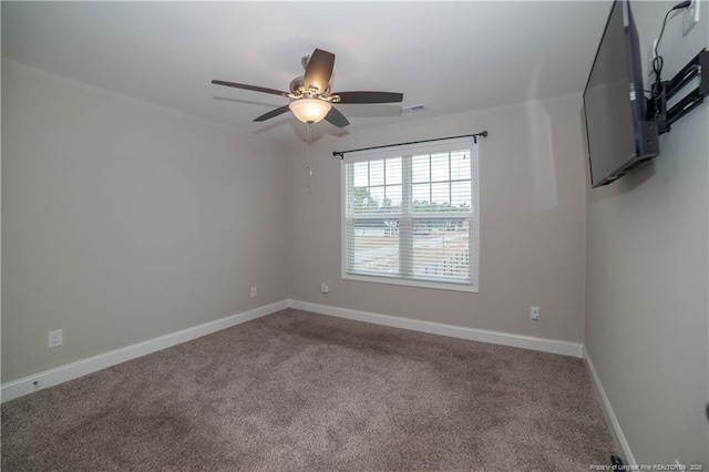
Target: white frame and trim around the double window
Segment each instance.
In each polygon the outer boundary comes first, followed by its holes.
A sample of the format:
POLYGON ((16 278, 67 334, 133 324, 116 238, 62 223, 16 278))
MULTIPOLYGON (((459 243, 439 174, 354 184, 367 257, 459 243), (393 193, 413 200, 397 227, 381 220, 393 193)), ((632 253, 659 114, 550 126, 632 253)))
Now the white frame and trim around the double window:
MULTIPOLYGON (((479 158, 479 143, 475 142, 472 137, 465 138, 455 138, 455 140, 446 140, 442 142, 429 142, 429 143, 420 143, 420 144, 407 144, 401 146, 391 146, 387 148, 378 148, 378 150, 368 150, 363 152, 357 153, 348 153, 343 156, 340 164, 340 236, 341 236, 341 247, 340 247, 340 267, 341 267, 341 278, 343 280, 357 280, 357 281, 366 281, 366 283, 374 283, 374 284, 391 284, 391 285, 400 285, 408 287, 418 287, 418 288, 432 288, 440 290, 453 290, 453 291, 467 291, 467 293, 479 293, 480 291, 480 158, 479 158), (380 158, 391 158, 391 157, 402 157, 402 167, 404 167, 403 157, 410 157, 413 155, 421 154, 435 154, 440 152, 450 152, 450 151, 460 151, 460 150, 470 150, 470 158, 471 158, 471 208, 472 214, 470 216, 470 226, 469 226, 469 238, 470 238, 470 283, 458 283, 458 281, 444 281, 444 280, 427 280, 422 278, 415 278, 414 276, 402 276, 401 274, 395 275, 384 275, 384 274, 349 274, 347 267, 347 244, 348 244, 348 208, 347 201, 348 195, 347 192, 349 189, 347 182, 347 165, 352 164, 354 162, 361 161, 373 161, 380 158)), ((449 176, 449 182, 452 182, 452 176, 449 176)), ((402 198, 407 197, 407 192, 403 189, 407 186, 405 177, 402 175, 402 198)), ((408 186, 411 188, 413 185, 412 181, 409 181, 408 186)), ((352 187, 353 188, 353 187, 352 187)), ((410 189, 409 189, 410 192, 410 189)), ((410 197, 410 195, 409 195, 410 197)), ((454 215, 453 212, 450 214, 441 215, 440 217, 450 217, 454 215)), ((359 215, 358 215, 359 216, 359 215)), ((366 215, 361 215, 366 217, 366 215)), ((370 215, 373 216, 373 215, 370 215)), ((386 215, 377 215, 378 217, 386 218, 386 215)), ((393 215, 392 215, 393 216, 393 215)), ((421 217, 434 216, 433 214, 423 213, 421 217)), ((411 218, 415 219, 418 217, 417 213, 410 212, 409 214, 402 214, 397 216, 398 218, 411 218)), ((354 219, 354 218, 352 218, 354 219)), ((413 229, 412 229, 413 230, 413 229)), ((411 234, 413 236, 413 233, 411 234)), ((399 249, 401 247, 399 246, 399 249)), ((399 252, 398 252, 399 253, 399 252)))

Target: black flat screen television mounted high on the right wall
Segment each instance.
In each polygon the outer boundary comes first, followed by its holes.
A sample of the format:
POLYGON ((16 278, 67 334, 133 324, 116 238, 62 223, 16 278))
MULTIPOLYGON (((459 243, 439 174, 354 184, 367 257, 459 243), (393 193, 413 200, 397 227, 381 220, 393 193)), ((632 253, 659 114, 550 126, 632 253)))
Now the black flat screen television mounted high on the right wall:
POLYGON ((641 61, 630 4, 616 0, 584 90, 592 187, 659 154, 657 126, 646 115, 641 61))

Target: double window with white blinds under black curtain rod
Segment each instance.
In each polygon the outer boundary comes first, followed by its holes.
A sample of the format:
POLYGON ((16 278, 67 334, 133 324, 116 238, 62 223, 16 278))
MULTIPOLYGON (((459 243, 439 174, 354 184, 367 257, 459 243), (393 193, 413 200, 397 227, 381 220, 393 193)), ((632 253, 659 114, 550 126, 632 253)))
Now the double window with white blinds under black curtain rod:
POLYGON ((342 278, 477 291, 472 138, 350 153, 342 161, 342 278))

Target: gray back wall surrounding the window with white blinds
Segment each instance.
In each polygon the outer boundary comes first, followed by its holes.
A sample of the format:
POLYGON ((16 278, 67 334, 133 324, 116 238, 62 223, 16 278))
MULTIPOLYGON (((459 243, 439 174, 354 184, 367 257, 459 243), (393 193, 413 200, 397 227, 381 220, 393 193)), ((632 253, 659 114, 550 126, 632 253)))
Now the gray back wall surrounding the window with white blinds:
POLYGON ((290 296, 335 307, 566 341, 583 338, 585 175, 580 96, 408 121, 290 148, 290 296), (481 140, 480 293, 340 279, 335 150, 473 133, 481 140), (319 293, 320 283, 330 293, 319 293), (530 306, 542 319, 530 320, 530 306))

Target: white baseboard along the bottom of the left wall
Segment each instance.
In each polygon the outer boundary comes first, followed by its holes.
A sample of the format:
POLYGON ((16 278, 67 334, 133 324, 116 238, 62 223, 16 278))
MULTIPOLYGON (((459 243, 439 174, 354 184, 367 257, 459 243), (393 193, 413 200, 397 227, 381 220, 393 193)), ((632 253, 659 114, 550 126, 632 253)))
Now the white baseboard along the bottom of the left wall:
POLYGON ((45 370, 33 376, 13 380, 0 386, 0 398, 2 399, 2 402, 6 402, 33 391, 56 386, 68 380, 76 379, 88 373, 105 369, 106 367, 125 362, 126 360, 131 360, 136 357, 145 356, 185 341, 210 335, 212 332, 220 331, 222 329, 230 328, 233 326, 270 315, 275 311, 286 309, 288 306, 288 300, 277 301, 275 304, 265 305, 226 318, 205 322, 181 331, 171 332, 169 335, 160 336, 157 338, 82 359, 76 362, 45 370), (37 384, 34 382, 37 382, 37 384))

